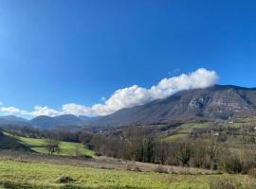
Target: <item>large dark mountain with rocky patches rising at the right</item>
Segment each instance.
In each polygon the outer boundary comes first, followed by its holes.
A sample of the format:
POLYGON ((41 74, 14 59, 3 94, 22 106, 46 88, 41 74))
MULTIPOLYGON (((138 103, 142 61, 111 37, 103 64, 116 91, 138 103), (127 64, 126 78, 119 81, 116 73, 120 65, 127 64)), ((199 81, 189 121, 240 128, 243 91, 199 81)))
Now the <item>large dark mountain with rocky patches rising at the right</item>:
POLYGON ((174 120, 229 119, 256 114, 256 88, 214 85, 184 90, 145 105, 122 109, 101 117, 94 124, 125 126, 169 123, 174 120))

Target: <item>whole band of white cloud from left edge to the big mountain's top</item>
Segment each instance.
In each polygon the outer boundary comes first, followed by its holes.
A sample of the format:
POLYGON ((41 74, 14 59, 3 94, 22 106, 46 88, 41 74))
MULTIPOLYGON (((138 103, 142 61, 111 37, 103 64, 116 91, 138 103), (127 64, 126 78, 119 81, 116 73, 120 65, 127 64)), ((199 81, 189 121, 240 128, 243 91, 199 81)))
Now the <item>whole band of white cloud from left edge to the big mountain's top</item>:
POLYGON ((139 87, 137 85, 119 89, 103 103, 95 104, 92 107, 68 103, 64 104, 60 111, 48 107, 35 106, 32 112, 22 111, 14 107, 2 108, 1 112, 12 112, 16 114, 27 113, 27 115, 30 116, 56 116, 60 114, 106 115, 112 112, 117 112, 123 108, 143 105, 155 99, 165 98, 182 90, 210 87, 217 81, 218 75, 214 71, 200 68, 190 74, 163 78, 150 89, 139 87))

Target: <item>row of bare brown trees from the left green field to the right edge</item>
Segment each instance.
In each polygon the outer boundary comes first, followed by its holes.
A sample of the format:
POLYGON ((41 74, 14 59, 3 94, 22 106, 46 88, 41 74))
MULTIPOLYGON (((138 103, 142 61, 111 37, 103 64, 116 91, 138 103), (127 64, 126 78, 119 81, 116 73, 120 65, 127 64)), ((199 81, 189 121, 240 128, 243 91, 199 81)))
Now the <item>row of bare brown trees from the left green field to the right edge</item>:
POLYGON ((159 141, 141 130, 134 130, 125 137, 96 134, 88 144, 99 155, 145 163, 182 165, 245 174, 256 167, 255 152, 235 153, 214 137, 207 140, 188 138, 166 142, 159 141))

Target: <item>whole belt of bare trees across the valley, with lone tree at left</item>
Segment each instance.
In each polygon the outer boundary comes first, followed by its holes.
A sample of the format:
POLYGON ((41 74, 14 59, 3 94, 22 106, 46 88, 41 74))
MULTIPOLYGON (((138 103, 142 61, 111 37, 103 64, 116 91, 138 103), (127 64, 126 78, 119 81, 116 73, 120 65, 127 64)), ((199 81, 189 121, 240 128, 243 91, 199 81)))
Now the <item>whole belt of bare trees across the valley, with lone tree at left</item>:
MULTIPOLYGON (((252 143, 252 129, 246 130, 242 137, 243 143, 252 143), (250 133, 248 135, 247 133, 250 133)), ((9 133, 15 135, 19 130, 9 133)), ((26 129, 23 134, 41 136, 46 139, 45 146, 48 154, 52 155, 60 150, 59 141, 79 142, 93 149, 98 155, 105 155, 119 159, 160 163, 182 166, 192 166, 208 169, 221 169, 229 173, 247 173, 256 167, 256 153, 234 153, 226 146, 228 136, 237 136, 238 129, 218 128, 193 129, 191 137, 182 141, 167 142, 155 137, 149 129, 132 127, 116 132, 97 132, 91 130, 70 131, 68 129, 38 130, 26 129), (218 132, 217 137, 212 132, 218 132), (113 134, 114 133, 114 134, 113 134), (204 136, 204 137, 202 137, 204 136)))

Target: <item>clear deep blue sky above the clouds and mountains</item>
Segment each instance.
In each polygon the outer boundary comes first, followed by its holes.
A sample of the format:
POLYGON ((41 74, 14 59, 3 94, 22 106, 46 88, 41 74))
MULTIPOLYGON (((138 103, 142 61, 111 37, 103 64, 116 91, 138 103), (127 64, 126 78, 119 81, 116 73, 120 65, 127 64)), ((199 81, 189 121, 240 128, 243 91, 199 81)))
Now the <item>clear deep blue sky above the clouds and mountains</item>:
POLYGON ((255 9, 254 0, 0 0, 1 107, 82 109, 198 68, 255 87, 255 9))

